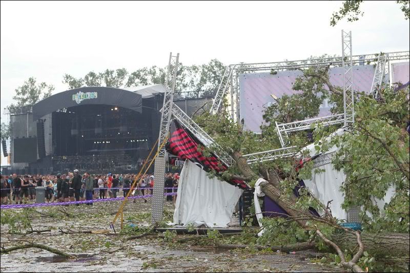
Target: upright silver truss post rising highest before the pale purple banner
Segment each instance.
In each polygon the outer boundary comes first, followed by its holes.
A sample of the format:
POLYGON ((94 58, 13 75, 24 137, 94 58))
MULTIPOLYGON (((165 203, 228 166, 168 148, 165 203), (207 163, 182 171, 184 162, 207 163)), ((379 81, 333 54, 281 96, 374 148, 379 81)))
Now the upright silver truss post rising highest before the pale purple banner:
POLYGON ((355 121, 353 91, 352 31, 342 30, 343 112, 344 126, 355 121))

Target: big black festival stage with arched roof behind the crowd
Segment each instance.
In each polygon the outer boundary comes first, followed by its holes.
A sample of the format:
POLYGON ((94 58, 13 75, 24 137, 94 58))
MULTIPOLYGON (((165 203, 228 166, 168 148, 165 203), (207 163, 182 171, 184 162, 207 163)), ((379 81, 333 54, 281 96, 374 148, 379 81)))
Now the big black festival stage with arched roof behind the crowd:
POLYGON ((9 171, 137 172, 158 138, 165 88, 127 89, 67 90, 11 115, 9 171))

